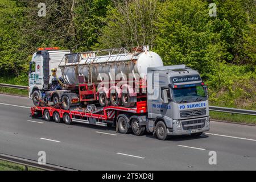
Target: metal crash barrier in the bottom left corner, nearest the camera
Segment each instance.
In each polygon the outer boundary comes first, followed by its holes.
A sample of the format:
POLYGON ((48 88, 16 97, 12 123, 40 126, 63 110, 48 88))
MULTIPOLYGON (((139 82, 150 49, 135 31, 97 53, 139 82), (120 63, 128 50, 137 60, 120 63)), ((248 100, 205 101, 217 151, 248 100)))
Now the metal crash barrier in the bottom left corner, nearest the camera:
POLYGON ((25 167, 25 171, 28 171, 28 167, 33 167, 33 168, 42 169, 46 171, 77 171, 77 169, 56 166, 53 164, 39 164, 38 161, 35 161, 35 160, 19 158, 17 156, 6 155, 6 154, 0 154, 0 160, 22 165, 25 167))

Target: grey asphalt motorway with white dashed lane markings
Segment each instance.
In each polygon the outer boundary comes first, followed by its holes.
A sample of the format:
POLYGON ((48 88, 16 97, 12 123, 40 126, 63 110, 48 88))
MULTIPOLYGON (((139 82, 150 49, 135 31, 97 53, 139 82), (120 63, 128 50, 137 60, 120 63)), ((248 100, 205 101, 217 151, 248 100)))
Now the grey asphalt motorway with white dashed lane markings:
POLYGON ((111 127, 65 125, 30 118, 32 102, 0 94, 0 153, 82 170, 255 170, 256 127, 210 123, 201 137, 161 141, 111 127), (210 165, 209 152, 217 164, 210 165))

